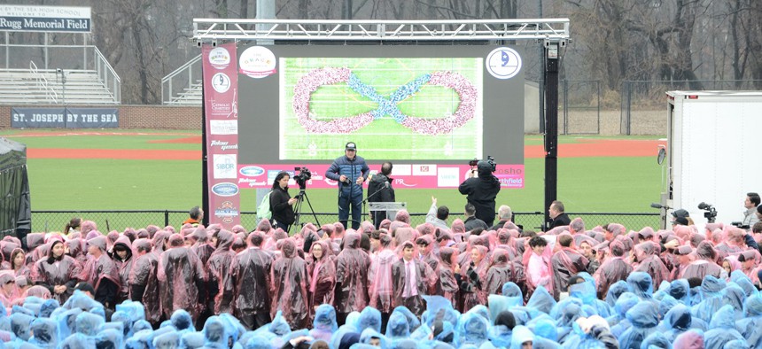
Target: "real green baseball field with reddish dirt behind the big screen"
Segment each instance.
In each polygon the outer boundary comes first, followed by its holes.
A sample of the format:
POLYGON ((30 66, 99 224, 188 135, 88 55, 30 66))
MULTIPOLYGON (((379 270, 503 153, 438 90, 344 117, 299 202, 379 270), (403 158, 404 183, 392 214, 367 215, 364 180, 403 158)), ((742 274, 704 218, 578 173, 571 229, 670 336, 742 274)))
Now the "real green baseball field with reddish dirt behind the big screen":
MULTIPOLYGON (((200 159, 88 159, 77 154, 87 150, 198 151, 198 130, 124 130, 126 135, 60 135, 60 130, 5 130, 0 136, 27 144, 32 209, 41 210, 187 210, 201 203, 200 159), (36 136, 28 136, 34 134, 36 136), (157 143, 162 142, 162 143, 157 143), (164 143, 178 142, 178 143, 164 143), (63 149, 66 159, 50 159, 53 148, 63 149)), ((541 136, 526 136, 527 146, 541 143, 541 136)), ((611 137, 561 136, 564 144, 610 140, 611 137)), ((616 137, 614 140, 656 140, 652 137, 616 137)), ((171 152, 170 152, 171 153, 171 152)), ((558 160, 557 198, 569 212, 657 213, 661 167, 654 156, 575 157, 558 160)), ((364 154, 362 154, 364 155, 364 154)), ((336 154, 334 154, 336 156, 336 154)), ((502 190, 498 205, 515 212, 543 211, 544 159, 525 159, 525 188, 502 190)), ((337 212, 336 190, 307 189, 315 211, 337 212)), ((255 211, 256 190, 241 190, 241 210, 255 211)), ((457 190, 396 189, 398 201, 408 211, 424 213, 432 196, 439 205, 462 212, 465 198, 457 190)), ((63 226, 64 222, 56 223, 63 226)), ((136 224, 137 225, 137 224, 136 224)), ((36 228, 36 225, 35 225, 36 228)))

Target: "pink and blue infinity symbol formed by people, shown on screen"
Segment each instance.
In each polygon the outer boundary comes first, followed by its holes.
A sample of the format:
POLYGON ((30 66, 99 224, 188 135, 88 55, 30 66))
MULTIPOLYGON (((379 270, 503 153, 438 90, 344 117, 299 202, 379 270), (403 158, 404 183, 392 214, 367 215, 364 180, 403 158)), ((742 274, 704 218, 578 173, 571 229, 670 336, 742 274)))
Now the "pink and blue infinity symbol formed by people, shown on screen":
POLYGON ((391 95, 385 97, 377 93, 376 89, 369 86, 352 73, 346 67, 324 67, 315 69, 305 74, 294 86, 293 111, 299 120, 299 124, 314 134, 346 134, 369 125, 388 115, 393 120, 416 133, 422 135, 442 135, 460 128, 471 120, 476 110, 478 89, 463 75, 438 71, 431 74, 423 74, 413 81, 400 86, 391 95), (338 82, 346 82, 347 86, 378 104, 376 110, 354 115, 349 118, 339 118, 330 121, 315 120, 310 115, 309 102, 312 93, 324 85, 338 82), (420 118, 403 114, 397 107, 406 99, 413 97, 425 85, 442 86, 454 89, 460 97, 457 110, 452 115, 444 118, 420 118))

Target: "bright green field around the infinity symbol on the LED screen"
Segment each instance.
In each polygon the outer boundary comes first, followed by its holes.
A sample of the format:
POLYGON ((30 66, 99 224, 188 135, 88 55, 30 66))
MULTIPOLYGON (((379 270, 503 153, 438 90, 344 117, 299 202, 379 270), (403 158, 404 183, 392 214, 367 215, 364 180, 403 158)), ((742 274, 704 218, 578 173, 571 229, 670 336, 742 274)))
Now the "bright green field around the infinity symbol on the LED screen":
MULTIPOLYGON (((482 86, 481 58, 282 58, 281 66, 285 88, 280 101, 280 129, 289 132, 280 135, 280 159, 335 159, 335 150, 344 148, 343 137, 307 132, 293 111, 294 87, 315 69, 347 67, 359 81, 386 99, 410 81, 438 71, 461 74, 474 86, 482 86)), ((481 91, 478 95, 480 101, 481 91)), ((460 102, 454 89, 425 84, 395 106, 405 115, 439 119, 452 115, 460 102)), ((378 107, 377 102, 350 89, 346 82, 321 86, 309 102, 310 117, 322 121, 351 118, 378 107)), ((419 135, 386 114, 353 132, 353 136, 362 140, 362 156, 366 159, 471 159, 481 151, 481 129, 479 110, 462 127, 437 136, 419 135)))

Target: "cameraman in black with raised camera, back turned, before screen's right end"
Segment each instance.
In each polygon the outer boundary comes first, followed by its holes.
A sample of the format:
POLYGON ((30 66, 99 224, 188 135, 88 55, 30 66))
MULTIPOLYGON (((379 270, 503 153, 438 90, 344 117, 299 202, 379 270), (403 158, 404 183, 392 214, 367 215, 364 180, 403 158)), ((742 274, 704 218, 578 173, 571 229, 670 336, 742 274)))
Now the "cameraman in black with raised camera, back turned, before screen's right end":
POLYGON ((487 227, 494 222, 494 199, 500 192, 500 181, 492 174, 493 165, 488 161, 481 160, 477 163, 478 176, 474 177, 474 170, 469 171, 469 178, 463 181, 458 191, 468 195, 469 204, 476 207, 476 218, 484 221, 487 227))

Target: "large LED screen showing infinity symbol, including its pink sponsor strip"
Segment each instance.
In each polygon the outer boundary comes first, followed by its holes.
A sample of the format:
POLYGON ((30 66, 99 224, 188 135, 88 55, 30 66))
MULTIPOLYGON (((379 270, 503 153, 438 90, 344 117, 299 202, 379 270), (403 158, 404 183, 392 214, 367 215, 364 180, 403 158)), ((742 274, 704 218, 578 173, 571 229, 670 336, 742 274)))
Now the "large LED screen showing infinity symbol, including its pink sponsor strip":
POLYGON ((371 169, 391 160, 396 177, 418 188, 456 186, 469 160, 487 155, 499 178, 501 170, 513 178, 506 187, 523 187, 521 50, 239 46, 238 69, 241 188, 268 186, 278 170, 298 166, 330 186, 323 167, 350 141, 371 169))

